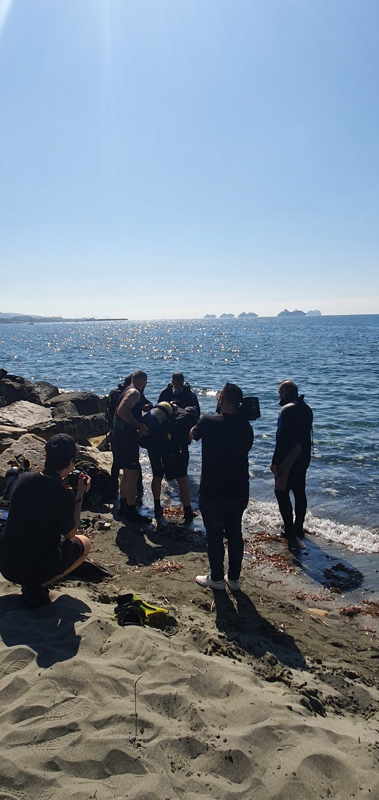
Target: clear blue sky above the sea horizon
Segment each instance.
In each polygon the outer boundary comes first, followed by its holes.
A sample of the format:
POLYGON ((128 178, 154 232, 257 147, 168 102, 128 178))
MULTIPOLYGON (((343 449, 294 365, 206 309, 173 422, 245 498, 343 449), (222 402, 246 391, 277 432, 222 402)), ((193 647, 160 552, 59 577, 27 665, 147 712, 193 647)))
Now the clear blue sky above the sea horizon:
POLYGON ((0 0, 0 311, 379 312, 378 0, 0 0))

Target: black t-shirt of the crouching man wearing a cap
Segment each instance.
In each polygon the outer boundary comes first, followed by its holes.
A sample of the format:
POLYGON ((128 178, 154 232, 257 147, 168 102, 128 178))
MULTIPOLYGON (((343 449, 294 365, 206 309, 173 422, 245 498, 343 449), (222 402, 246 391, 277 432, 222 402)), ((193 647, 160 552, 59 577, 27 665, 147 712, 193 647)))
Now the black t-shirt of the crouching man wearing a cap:
POLYGON ((74 517, 75 493, 59 476, 20 475, 0 540, 0 572, 15 583, 25 582, 28 575, 36 583, 54 578, 62 554, 61 537, 73 530, 74 517))

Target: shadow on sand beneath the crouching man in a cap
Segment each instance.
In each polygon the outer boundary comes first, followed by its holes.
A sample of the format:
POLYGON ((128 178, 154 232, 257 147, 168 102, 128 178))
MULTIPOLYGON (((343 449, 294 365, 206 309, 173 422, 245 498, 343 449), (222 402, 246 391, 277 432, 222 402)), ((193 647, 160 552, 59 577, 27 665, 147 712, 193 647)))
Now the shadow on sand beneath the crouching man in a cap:
POLYGON ((74 623, 84 622, 88 614, 90 606, 69 594, 38 609, 27 608, 17 594, 6 594, 0 597, 0 636, 7 647, 30 647, 38 666, 48 667, 78 653, 82 637, 74 623))

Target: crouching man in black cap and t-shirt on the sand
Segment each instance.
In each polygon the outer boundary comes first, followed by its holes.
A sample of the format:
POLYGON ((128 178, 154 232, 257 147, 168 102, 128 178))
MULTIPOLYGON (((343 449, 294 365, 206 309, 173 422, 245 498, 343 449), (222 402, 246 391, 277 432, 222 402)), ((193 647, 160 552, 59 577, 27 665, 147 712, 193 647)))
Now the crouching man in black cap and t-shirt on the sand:
POLYGON ((33 608, 50 602, 47 586, 74 570, 90 552, 90 540, 78 534, 90 478, 80 474, 76 496, 66 486, 77 454, 74 439, 57 434, 45 450, 42 472, 18 478, 0 540, 0 572, 7 581, 21 584, 22 599, 33 608))

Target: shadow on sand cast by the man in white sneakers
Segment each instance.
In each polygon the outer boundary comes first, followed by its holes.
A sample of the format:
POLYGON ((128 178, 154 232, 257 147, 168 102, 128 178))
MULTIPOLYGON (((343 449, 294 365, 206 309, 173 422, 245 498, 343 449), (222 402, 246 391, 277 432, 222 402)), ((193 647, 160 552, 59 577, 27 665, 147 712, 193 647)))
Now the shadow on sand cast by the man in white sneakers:
POLYGON ((225 591, 215 591, 213 594, 216 626, 229 642, 234 642, 253 658, 261 658, 269 653, 289 668, 307 669, 305 658, 293 637, 285 631, 281 633, 271 622, 261 617, 245 592, 238 591, 233 595, 237 608, 225 591))

